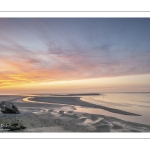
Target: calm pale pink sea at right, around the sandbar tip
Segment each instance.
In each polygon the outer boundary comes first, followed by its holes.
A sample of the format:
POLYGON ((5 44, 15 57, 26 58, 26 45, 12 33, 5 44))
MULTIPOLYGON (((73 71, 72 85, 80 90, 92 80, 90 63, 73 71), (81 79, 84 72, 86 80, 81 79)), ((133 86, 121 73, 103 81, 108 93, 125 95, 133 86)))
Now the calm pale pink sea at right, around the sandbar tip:
POLYGON ((84 96, 81 100, 142 116, 126 116, 101 109, 82 107, 76 107, 76 111, 113 116, 127 121, 150 125, 150 93, 102 93, 100 96, 84 96))

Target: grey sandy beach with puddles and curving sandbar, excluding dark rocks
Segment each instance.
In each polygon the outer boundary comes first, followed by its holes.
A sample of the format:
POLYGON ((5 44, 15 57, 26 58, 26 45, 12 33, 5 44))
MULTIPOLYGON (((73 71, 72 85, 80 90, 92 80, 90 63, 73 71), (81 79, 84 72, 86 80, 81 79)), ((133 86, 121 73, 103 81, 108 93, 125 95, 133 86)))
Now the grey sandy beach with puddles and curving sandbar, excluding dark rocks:
POLYGON ((140 114, 83 101, 81 97, 82 95, 0 96, 0 102, 12 102, 20 111, 20 114, 0 113, 0 123, 13 122, 25 127, 15 131, 0 128, 0 132, 150 132, 150 125, 78 111, 78 107, 87 111, 91 108, 140 117, 140 114))

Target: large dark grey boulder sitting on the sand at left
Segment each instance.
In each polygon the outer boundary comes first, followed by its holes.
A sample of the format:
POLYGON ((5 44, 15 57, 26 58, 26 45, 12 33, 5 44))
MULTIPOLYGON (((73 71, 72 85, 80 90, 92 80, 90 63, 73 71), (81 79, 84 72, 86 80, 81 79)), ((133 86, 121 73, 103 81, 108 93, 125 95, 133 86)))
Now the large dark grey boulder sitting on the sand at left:
POLYGON ((19 114, 18 108, 10 102, 2 101, 0 103, 1 112, 4 114, 19 114))

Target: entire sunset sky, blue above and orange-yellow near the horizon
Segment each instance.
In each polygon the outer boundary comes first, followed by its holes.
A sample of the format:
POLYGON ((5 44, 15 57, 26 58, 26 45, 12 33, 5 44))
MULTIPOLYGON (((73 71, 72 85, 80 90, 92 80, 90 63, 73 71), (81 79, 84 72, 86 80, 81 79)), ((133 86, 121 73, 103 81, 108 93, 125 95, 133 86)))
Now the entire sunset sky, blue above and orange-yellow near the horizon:
POLYGON ((0 94, 150 92, 150 18, 0 18, 0 94))

